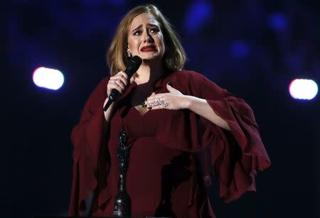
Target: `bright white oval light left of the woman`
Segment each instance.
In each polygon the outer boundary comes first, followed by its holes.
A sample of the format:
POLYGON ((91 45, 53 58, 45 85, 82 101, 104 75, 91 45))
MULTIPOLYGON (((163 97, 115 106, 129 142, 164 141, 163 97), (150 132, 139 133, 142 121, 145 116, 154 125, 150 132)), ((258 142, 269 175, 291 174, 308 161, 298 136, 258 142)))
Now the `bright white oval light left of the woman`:
POLYGON ((33 83, 41 88, 58 90, 64 80, 63 73, 55 69, 40 67, 33 72, 33 83))

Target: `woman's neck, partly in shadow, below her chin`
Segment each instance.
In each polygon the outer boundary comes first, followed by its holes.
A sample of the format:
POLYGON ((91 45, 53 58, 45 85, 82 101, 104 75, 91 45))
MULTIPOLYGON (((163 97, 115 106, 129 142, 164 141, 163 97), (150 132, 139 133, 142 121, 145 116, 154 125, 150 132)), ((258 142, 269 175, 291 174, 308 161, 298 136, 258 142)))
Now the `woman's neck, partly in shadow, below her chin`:
POLYGON ((164 67, 161 63, 148 63, 144 60, 136 73, 137 77, 135 79, 135 82, 138 85, 142 83, 153 84, 154 81, 157 81, 163 74, 164 67))

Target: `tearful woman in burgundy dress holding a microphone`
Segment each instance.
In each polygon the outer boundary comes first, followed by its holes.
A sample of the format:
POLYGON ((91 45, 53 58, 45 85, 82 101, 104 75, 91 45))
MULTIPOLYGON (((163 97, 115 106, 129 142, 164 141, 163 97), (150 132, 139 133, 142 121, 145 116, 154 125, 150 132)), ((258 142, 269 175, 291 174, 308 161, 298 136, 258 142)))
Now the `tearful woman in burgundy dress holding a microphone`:
POLYGON ((113 215, 122 130, 132 217, 215 217, 206 194, 210 175, 226 202, 255 190, 256 172, 270 160, 251 108, 201 74, 180 70, 185 53, 156 6, 124 16, 107 61, 111 76, 90 95, 71 135, 70 216, 113 215), (132 56, 143 61, 128 78, 132 56), (104 111, 112 89, 121 95, 104 111))

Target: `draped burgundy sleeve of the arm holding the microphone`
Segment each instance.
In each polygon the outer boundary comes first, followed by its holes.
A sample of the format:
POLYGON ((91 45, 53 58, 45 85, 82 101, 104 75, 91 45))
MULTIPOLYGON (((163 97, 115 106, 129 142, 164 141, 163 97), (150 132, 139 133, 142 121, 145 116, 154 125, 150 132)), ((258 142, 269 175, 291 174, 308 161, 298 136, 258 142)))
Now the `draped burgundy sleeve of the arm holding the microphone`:
MULTIPOLYGON (((73 182, 71 187, 69 216, 81 216, 87 209, 86 199, 92 197, 97 188, 97 162, 106 143, 105 118, 102 110, 107 98, 107 82, 104 78, 91 93, 82 110, 80 122, 73 128, 71 140, 73 142, 73 182)), ((107 169, 102 165, 103 171, 107 169)), ((106 173, 106 172, 105 172, 106 173)))

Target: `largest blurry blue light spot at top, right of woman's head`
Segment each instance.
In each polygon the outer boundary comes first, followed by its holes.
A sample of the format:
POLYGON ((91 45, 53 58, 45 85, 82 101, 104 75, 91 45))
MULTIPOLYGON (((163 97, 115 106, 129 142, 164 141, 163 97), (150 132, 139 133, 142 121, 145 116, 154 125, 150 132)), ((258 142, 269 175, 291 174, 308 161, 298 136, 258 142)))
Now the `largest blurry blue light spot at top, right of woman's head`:
POLYGON ((187 31, 197 31, 204 22, 210 19, 213 6, 207 1, 196 1, 191 4, 184 22, 187 31))

